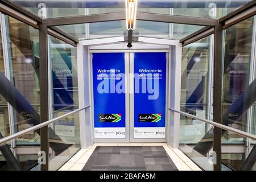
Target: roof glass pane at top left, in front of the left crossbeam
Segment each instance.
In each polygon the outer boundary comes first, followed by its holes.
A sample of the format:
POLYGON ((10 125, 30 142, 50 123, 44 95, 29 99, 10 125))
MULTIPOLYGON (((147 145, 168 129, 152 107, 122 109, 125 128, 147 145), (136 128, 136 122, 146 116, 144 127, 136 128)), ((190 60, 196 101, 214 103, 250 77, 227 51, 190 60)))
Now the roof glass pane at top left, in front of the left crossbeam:
POLYGON ((25 7, 31 13, 42 18, 57 18, 63 16, 91 15, 103 13, 118 13, 125 11, 123 0, 11 0, 25 7))

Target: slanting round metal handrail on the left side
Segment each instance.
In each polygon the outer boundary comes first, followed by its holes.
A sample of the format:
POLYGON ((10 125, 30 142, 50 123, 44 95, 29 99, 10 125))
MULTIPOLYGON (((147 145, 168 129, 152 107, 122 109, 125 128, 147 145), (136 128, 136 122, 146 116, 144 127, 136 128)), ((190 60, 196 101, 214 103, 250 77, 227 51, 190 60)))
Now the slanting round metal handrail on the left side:
POLYGON ((12 139, 21 137, 22 135, 26 135, 27 133, 30 133, 31 131, 38 130, 38 129, 40 129, 40 128, 44 127, 44 126, 47 126, 47 125, 49 125, 49 124, 51 124, 51 123, 53 123, 53 122, 55 122, 55 121, 59 121, 60 119, 65 118, 65 117, 67 117, 68 115, 77 113, 77 112, 79 112, 79 111, 81 111, 81 110, 84 110, 84 109, 87 109, 87 108, 89 108, 89 107, 90 107, 90 105, 89 105, 89 106, 82 107, 81 109, 73 110, 73 111, 71 111, 71 112, 69 112, 69 113, 67 113, 67 114, 64 114, 64 115, 61 115, 61 116, 59 116, 59 117, 50 119, 49 121, 40 123, 40 124, 38 124, 38 125, 36 125, 36 126, 32 126, 32 127, 28 128, 28 129, 26 129, 26 130, 22 130, 22 131, 19 131, 18 133, 15 133, 15 134, 10 135, 10 136, 8 136, 8 137, 2 138, 2 139, 0 139, 0 146, 2 146, 2 143, 6 143, 6 142, 8 142, 9 140, 12 140, 12 139))

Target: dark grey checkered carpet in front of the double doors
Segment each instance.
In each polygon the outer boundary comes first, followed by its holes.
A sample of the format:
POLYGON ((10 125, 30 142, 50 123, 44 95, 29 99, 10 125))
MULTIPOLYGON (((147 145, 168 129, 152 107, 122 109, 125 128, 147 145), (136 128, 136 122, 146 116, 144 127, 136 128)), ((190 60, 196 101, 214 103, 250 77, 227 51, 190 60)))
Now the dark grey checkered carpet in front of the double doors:
POLYGON ((97 146, 82 169, 177 171, 163 146, 97 146))

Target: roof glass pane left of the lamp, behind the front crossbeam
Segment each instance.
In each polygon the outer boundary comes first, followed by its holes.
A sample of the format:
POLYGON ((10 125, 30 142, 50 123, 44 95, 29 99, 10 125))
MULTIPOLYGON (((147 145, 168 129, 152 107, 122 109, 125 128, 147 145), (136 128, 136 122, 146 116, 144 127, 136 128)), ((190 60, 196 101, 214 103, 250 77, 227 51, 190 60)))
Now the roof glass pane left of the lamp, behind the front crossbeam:
POLYGON ((125 20, 73 24, 67 26, 57 26, 57 28, 60 28, 60 30, 75 36, 77 39, 96 39, 127 35, 125 20))

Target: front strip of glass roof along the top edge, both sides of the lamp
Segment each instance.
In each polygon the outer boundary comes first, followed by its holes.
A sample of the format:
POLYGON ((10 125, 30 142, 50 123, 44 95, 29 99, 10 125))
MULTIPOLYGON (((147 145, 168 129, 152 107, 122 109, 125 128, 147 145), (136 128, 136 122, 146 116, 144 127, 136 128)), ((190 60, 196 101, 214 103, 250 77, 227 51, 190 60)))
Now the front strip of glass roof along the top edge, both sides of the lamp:
MULTIPOLYGON (((11 0, 42 18, 125 11, 125 0, 11 0)), ((221 18, 250 0, 138 0, 138 11, 221 18)))

